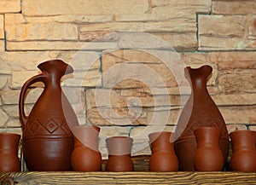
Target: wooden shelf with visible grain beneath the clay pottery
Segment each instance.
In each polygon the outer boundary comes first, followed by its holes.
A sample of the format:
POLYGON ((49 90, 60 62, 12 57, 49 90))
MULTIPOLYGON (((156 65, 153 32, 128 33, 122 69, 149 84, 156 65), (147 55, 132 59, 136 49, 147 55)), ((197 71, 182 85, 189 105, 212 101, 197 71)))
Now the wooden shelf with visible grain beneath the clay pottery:
POLYGON ((34 184, 256 184, 256 173, 245 172, 9 172, 1 185, 34 184))

